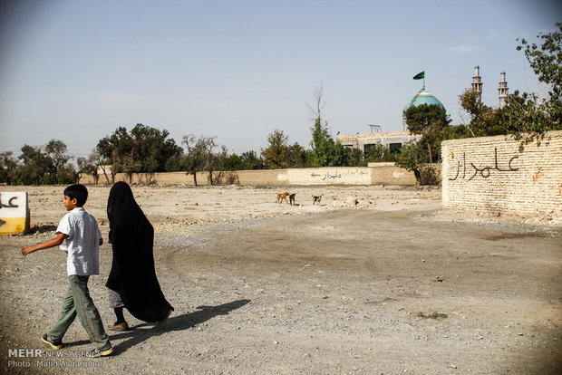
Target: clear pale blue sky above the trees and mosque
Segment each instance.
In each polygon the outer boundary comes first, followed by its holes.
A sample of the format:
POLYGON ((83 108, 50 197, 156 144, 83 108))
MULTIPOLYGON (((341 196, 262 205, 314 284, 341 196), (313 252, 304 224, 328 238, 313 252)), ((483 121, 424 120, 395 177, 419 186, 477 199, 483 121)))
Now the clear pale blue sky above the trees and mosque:
MULTIPOLYGON (((0 151, 62 139, 87 157, 119 126, 217 137, 229 152, 283 130, 311 139, 315 90, 333 135, 402 130, 422 88, 459 124, 480 65, 483 101, 546 93, 517 38, 562 22, 550 0, 1 0, 0 151)), ((464 115, 466 119, 467 116, 464 115)))

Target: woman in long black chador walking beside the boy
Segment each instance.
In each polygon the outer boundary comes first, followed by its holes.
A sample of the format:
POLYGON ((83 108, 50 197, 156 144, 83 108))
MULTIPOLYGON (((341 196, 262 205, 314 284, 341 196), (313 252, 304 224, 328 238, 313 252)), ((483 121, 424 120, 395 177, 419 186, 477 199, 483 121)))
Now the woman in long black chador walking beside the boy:
POLYGON ((154 228, 144 216, 125 182, 111 187, 107 202, 113 262, 105 284, 110 289, 110 307, 117 321, 111 331, 129 329, 123 307, 144 322, 163 327, 174 310, 160 289, 154 269, 154 228))

